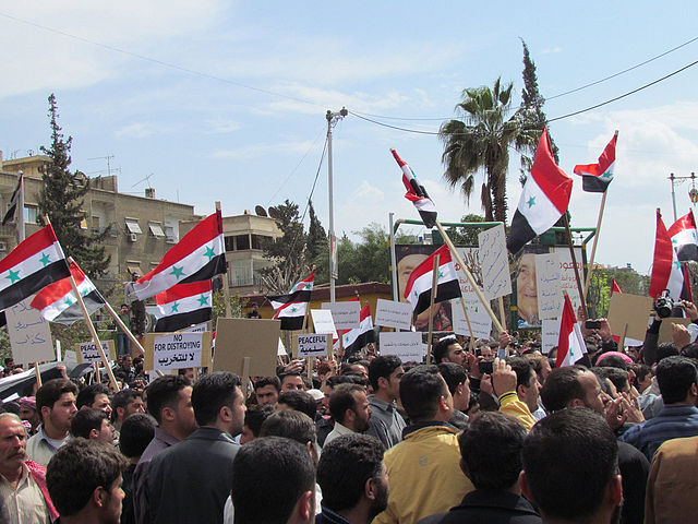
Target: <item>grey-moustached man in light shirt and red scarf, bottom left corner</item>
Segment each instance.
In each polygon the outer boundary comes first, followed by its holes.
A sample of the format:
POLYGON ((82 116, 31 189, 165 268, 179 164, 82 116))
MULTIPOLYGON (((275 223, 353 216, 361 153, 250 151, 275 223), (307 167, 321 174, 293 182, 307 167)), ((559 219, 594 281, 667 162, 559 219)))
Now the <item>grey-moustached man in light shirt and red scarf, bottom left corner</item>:
POLYGON ((46 468, 27 460, 20 417, 0 414, 0 511, 9 524, 49 524, 58 517, 46 488, 46 468))

